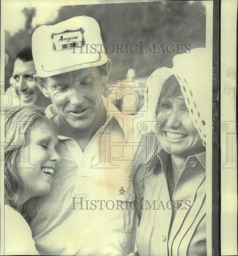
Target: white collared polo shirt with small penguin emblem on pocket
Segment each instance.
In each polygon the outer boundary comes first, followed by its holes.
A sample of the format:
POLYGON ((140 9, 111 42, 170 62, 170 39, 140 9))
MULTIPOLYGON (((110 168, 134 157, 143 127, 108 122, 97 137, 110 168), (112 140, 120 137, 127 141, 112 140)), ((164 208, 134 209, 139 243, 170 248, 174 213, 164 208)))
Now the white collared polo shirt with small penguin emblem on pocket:
POLYGON ((28 204, 40 254, 127 255, 135 250, 134 176, 145 162, 146 147, 139 133, 133 133, 136 146, 127 143, 131 119, 107 113, 84 152, 74 139, 58 136, 61 160, 51 191, 28 204))

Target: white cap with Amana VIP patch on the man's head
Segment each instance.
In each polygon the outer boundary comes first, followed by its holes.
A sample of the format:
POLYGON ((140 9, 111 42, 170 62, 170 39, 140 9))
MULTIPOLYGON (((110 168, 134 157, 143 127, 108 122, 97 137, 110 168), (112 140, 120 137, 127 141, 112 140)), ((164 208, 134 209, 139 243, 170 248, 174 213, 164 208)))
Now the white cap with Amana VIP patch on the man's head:
POLYGON ((32 55, 39 77, 107 62, 98 22, 87 16, 38 27, 32 35, 32 55))

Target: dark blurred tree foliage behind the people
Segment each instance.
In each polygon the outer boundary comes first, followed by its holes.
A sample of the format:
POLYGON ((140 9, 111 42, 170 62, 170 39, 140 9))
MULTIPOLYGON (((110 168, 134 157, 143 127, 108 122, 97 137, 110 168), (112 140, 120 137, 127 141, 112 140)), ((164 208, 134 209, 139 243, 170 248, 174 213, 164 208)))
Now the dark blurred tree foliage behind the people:
MULTIPOLYGON (((36 29, 31 23, 36 9, 24 8, 25 28, 14 36, 5 31, 5 52, 9 61, 5 67, 5 80, 12 75, 18 51, 31 44, 36 29)), ((62 6, 53 25, 74 16, 91 16, 101 28, 105 44, 136 44, 139 40, 153 44, 191 44, 191 48, 205 47, 206 14, 201 1, 164 1, 142 3, 115 3, 62 6)), ((43 25, 43 24, 39 24, 43 25)), ((111 49, 111 48, 110 48, 111 49)), ((125 50, 123 50, 125 51, 125 50)), ((155 69, 171 67, 174 54, 108 54, 112 61, 109 82, 124 79, 127 70, 133 68, 137 77, 148 77, 155 69)))

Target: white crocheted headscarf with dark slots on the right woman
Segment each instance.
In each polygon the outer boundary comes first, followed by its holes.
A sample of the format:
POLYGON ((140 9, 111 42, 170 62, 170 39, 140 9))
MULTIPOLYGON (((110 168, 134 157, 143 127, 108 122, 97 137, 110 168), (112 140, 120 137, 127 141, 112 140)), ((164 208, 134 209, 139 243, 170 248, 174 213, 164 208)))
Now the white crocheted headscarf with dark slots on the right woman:
MULTIPOLYGON (((206 144, 206 99, 212 97, 211 60, 206 48, 192 49, 190 53, 178 54, 173 58, 172 68, 158 68, 147 79, 148 109, 155 110, 162 86, 168 77, 178 80, 189 116, 194 127, 206 144)), ((210 98, 211 99, 211 98, 210 98)), ((147 113, 147 115, 149 112, 147 113)), ((151 112, 150 112, 151 116, 151 112)), ((148 117, 147 117, 148 118, 148 117)))

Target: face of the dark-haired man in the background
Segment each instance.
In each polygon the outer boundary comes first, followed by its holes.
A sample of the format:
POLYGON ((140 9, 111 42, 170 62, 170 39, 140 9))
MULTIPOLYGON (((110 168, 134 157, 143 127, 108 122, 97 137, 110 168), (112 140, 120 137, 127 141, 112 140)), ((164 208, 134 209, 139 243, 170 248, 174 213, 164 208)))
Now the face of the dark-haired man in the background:
POLYGON ((20 97, 21 102, 24 104, 35 104, 40 98, 44 97, 37 83, 33 80, 35 73, 33 60, 24 62, 21 59, 16 59, 10 83, 20 87, 20 92, 17 91, 17 96, 18 98, 20 97))

